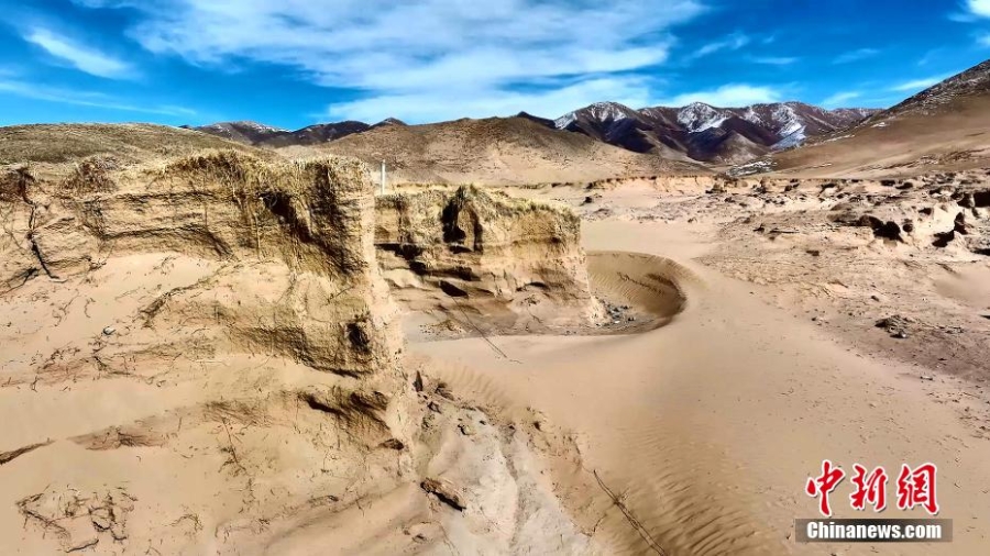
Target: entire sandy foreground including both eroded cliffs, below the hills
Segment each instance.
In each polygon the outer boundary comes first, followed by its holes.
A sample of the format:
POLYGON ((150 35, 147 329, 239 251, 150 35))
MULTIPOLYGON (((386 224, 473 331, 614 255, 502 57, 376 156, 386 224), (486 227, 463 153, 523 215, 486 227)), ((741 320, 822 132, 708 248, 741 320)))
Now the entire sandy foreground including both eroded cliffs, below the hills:
POLYGON ((0 553, 990 544, 982 171, 101 160, 0 181, 0 553), (798 544, 823 459, 936 464, 953 544, 798 544))

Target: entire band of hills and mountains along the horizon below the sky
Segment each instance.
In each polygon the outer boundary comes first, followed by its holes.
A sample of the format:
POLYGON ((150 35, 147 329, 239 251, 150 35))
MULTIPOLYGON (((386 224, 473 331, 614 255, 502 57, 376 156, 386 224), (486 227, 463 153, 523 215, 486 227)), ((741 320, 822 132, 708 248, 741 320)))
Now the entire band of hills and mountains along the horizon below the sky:
MULTIPOLYGON (((254 122, 0 127, 0 166, 113 164, 234 148, 263 158, 327 154, 383 159, 394 182, 536 184, 713 171, 793 177, 897 177, 990 167, 990 60, 882 111, 798 102, 632 110, 600 102, 550 120, 386 120, 297 131, 254 122)), ((53 170, 54 171, 54 170, 53 170)))

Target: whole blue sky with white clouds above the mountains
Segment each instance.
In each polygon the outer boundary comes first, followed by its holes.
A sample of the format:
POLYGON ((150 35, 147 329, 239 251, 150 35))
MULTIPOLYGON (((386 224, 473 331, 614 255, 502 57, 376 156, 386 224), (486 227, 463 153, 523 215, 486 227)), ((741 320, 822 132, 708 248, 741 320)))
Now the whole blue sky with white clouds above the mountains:
POLYGON ((0 125, 287 129, 801 100, 990 58, 990 0, 0 0, 0 125))

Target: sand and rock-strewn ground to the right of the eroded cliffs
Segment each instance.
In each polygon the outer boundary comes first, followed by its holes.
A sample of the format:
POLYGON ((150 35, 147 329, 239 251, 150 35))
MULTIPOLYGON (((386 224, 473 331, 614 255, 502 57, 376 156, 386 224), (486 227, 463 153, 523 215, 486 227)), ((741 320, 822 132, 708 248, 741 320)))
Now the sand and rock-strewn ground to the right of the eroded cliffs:
MULTIPOLYGON (((413 349, 455 390, 498 392, 571 431, 580 457, 554 467, 558 493, 606 552, 981 554, 990 265, 958 244, 930 245, 959 211, 986 218, 967 210, 968 197, 964 207, 952 200, 971 179, 922 178, 946 193, 935 202, 931 190, 879 182, 807 182, 784 193, 799 184, 784 180, 757 194, 748 185, 706 193, 653 180, 594 196, 521 190, 583 208, 597 293, 652 303, 670 322, 635 335, 491 338, 497 351, 480 338, 413 349), (743 208, 726 210, 727 200, 743 208), (815 216, 850 208, 922 218, 913 237, 892 242, 815 216), (911 335, 878 329, 888 312, 906 315, 911 335), (815 513, 801 486, 822 459, 888 469, 937 459, 939 516, 955 520, 955 542, 796 545, 793 520, 815 513), (603 500, 595 476, 642 529, 603 500)), ((847 501, 839 507, 836 516, 857 516, 847 501)))

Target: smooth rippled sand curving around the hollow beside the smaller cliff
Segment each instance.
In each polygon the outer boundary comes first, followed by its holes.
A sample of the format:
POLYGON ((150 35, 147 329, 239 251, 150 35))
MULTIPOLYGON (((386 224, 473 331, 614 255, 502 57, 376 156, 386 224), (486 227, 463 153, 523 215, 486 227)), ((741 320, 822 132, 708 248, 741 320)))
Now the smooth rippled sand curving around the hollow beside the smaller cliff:
MULTIPOLYGON (((669 326, 645 334, 493 338, 507 358, 477 338, 410 349, 433 357, 435 372, 459 392, 474 390, 491 402, 497 391, 572 431, 581 462, 560 462, 558 494, 601 552, 648 554, 652 545, 667 554, 985 553, 990 444, 972 438, 952 404, 933 399, 953 385, 922 382, 926 371, 917 367, 868 360, 760 301, 758 286, 692 264, 704 252, 686 232, 692 227, 602 222, 585 230, 588 249, 671 257, 705 286, 666 275, 690 303, 669 326), (795 544, 793 520, 816 515, 804 482, 825 458, 848 471, 860 463, 893 475, 902 463, 935 463, 939 518, 955 521, 955 542, 795 544)), ((605 263, 592 257, 593 266, 605 263)), ((593 269, 593 279, 603 274, 607 265, 593 269)), ((927 516, 854 512, 849 492, 847 479, 833 494, 837 518, 927 516)))

